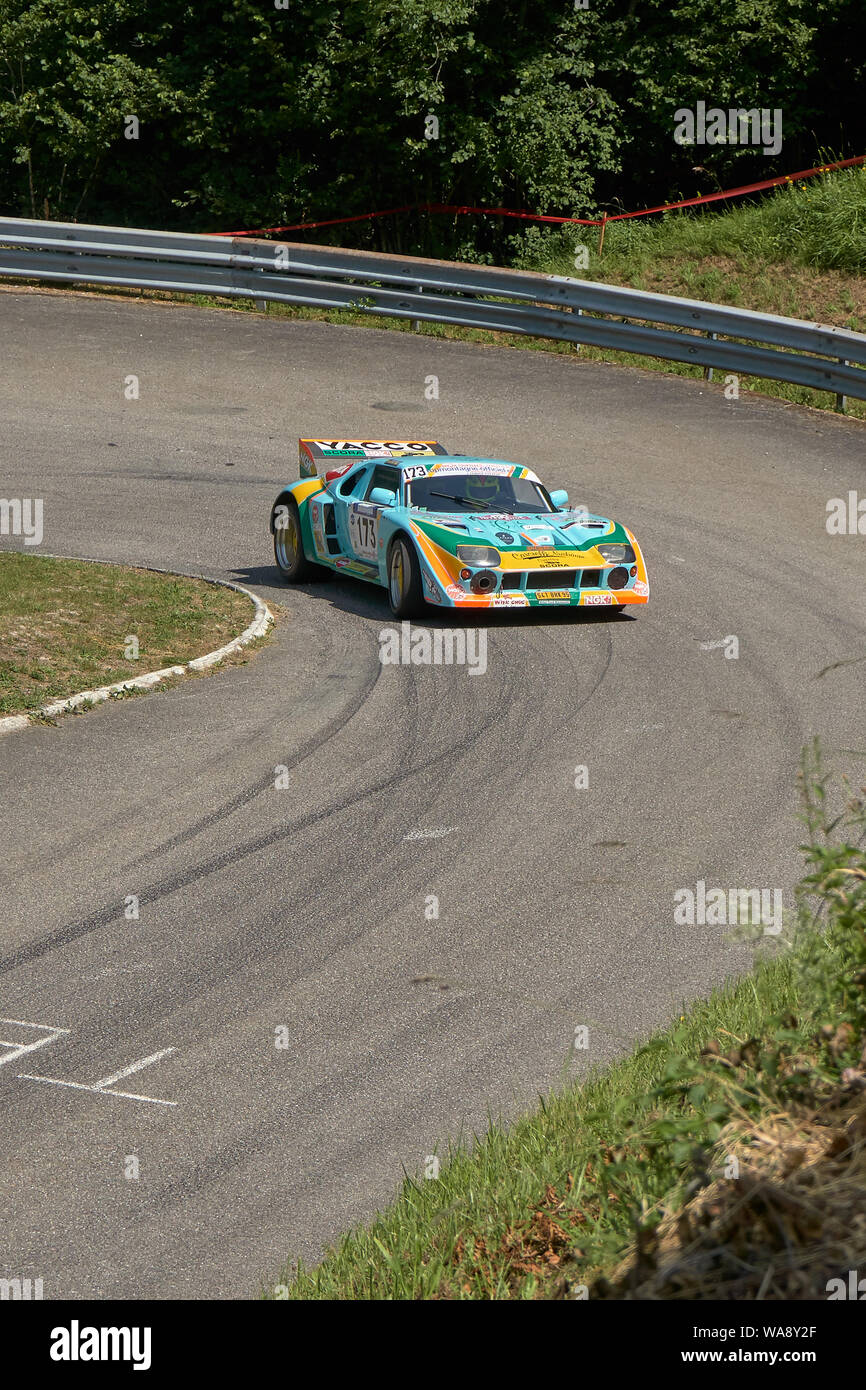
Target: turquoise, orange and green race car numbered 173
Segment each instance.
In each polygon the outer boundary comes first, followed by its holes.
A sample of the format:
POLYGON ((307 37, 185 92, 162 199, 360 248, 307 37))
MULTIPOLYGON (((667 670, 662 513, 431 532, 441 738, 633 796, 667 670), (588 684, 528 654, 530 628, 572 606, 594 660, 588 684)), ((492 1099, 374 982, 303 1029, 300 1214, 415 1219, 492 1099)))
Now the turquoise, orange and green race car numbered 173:
POLYGON ((395 617, 436 607, 646 603, 641 548, 619 521, 548 492, 531 468, 430 439, 299 439, 300 474, 274 502, 277 564, 378 584, 395 617))

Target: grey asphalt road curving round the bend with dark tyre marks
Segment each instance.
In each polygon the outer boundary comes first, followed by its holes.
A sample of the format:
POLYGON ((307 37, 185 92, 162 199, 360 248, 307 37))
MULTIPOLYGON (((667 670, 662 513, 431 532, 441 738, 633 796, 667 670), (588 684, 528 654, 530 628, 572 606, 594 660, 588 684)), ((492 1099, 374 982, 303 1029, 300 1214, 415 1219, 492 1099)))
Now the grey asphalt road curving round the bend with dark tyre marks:
POLYGON ((727 929, 674 923, 678 888, 791 903, 803 741, 863 770, 866 538, 826 506, 866 493, 866 431, 574 357, 135 302, 0 292, 0 495, 44 499, 43 550, 282 605, 243 667, 0 739, 0 1276, 254 1295, 402 1166, 741 969, 727 929), (382 667, 384 594, 274 569, 299 434, 528 463, 637 531, 651 603, 496 614, 484 674, 382 667), (706 645, 730 635, 737 659, 706 645))

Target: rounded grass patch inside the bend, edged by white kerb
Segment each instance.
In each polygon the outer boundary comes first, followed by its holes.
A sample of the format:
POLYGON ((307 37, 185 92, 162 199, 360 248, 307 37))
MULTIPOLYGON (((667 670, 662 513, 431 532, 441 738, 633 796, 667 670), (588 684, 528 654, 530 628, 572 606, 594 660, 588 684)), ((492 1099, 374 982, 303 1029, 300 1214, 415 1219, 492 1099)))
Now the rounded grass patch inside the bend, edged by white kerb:
POLYGON ((247 598, 202 580, 83 560, 0 555, 0 716, 114 685, 222 646, 247 598), (138 641, 138 657, 131 638, 138 641))

